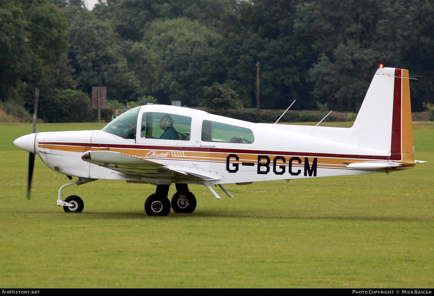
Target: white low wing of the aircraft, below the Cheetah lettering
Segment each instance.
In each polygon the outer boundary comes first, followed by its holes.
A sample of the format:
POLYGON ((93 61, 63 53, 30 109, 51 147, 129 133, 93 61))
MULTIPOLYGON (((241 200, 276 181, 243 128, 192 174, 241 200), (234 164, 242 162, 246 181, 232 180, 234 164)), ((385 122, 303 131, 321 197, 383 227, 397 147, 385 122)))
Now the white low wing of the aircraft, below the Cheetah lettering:
POLYGON ((139 178, 167 178, 189 181, 217 181, 224 179, 220 173, 210 170, 176 164, 162 164, 115 151, 89 151, 82 155, 82 160, 139 178))

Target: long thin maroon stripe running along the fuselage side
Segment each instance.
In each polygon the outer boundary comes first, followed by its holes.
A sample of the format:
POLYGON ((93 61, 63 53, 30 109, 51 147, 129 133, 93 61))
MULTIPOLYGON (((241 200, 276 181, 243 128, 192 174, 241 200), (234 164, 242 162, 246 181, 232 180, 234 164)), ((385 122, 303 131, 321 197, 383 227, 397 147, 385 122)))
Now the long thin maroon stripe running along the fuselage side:
MULTIPOLYGON (((353 154, 331 154, 331 153, 305 153, 305 152, 292 152, 292 151, 265 151, 265 150, 244 150, 244 149, 224 149, 212 147, 168 147, 168 146, 149 146, 143 144, 136 145, 120 145, 120 144, 95 144, 89 143, 61 143, 61 142, 39 142, 45 145, 65 145, 65 146, 85 146, 97 148, 117 148, 117 149, 143 149, 143 150, 172 150, 172 151, 185 151, 185 152, 214 152, 214 153, 240 153, 240 154, 256 154, 256 155, 288 155, 288 156, 309 156, 309 157, 335 157, 335 158, 355 158, 355 159, 368 159, 368 160, 388 160, 388 156, 379 155, 353 155, 353 154)), ((399 154, 401 155, 401 154, 399 154)), ((391 159, 391 158, 390 158, 391 159)))

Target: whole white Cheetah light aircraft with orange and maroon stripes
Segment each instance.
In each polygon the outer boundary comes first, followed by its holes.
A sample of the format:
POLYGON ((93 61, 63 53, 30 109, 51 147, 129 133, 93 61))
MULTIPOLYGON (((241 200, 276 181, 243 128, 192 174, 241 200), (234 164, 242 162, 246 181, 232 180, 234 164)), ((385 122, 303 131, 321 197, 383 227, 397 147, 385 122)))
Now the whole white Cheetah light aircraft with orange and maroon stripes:
MULTIPOLYGON (((258 124, 145 105, 102 130, 31 133, 13 143, 70 180, 78 177, 59 189, 57 205, 66 212, 79 213, 84 204, 78 196, 62 200, 65 186, 112 179, 155 184, 155 193, 145 201, 150 216, 167 216, 171 208, 192 213, 196 198, 188 184, 202 184, 220 200, 211 185, 232 197, 224 184, 414 168, 419 161, 414 160, 409 79, 408 70, 381 65, 351 128, 258 124), (177 193, 169 201, 172 183, 177 193)), ((30 161, 28 193, 32 172, 30 161)))

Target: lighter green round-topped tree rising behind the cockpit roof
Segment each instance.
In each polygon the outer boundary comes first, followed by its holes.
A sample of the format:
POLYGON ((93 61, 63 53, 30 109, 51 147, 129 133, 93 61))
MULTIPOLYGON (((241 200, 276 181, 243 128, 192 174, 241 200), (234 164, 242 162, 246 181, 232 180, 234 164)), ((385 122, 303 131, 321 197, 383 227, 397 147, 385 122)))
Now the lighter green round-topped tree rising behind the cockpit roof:
POLYGON ((191 106, 200 102, 207 83, 202 68, 219 39, 220 34, 185 17, 151 23, 144 41, 158 54, 152 91, 161 103, 180 100, 191 106))

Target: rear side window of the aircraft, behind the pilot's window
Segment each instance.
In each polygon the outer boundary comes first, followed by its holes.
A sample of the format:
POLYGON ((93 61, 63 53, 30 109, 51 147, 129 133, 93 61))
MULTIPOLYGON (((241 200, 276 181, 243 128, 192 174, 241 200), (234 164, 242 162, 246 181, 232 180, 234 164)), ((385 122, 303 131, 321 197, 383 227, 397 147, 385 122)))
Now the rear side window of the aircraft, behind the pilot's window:
POLYGON ((253 143, 252 130, 216 121, 204 120, 202 123, 202 141, 222 143, 253 143))

